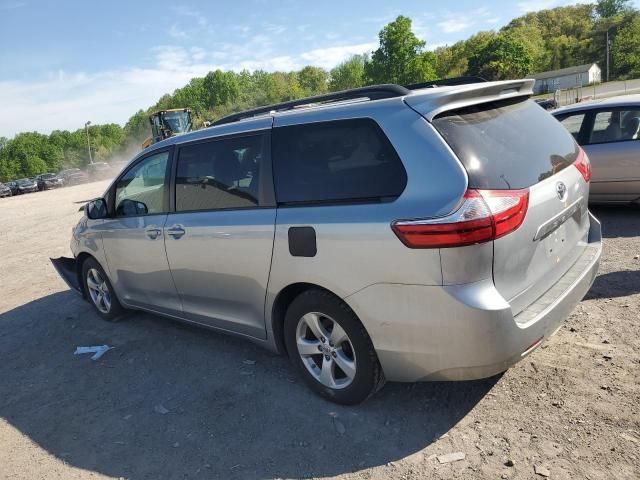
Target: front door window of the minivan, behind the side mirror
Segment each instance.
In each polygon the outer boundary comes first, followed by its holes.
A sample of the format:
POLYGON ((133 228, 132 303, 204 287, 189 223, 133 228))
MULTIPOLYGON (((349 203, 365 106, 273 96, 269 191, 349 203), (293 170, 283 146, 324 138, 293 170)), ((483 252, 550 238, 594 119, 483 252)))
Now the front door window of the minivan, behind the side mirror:
POLYGON ((116 216, 151 215, 166 211, 169 152, 145 158, 116 182, 116 216))

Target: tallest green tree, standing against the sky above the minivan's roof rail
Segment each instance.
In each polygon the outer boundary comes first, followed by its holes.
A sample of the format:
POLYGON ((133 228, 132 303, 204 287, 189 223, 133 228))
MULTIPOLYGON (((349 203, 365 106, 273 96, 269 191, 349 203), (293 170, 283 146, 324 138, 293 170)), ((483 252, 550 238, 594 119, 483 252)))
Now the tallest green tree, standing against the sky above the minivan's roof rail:
POLYGON ((378 35, 380 46, 364 65, 367 83, 409 84, 433 80, 435 56, 411 31, 411 19, 399 16, 378 35))

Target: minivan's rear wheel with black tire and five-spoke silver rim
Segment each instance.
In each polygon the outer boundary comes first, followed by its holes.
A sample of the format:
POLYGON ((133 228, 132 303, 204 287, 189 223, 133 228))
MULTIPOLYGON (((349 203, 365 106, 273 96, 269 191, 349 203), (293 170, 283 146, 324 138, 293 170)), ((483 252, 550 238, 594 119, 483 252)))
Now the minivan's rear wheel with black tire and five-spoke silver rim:
POLYGON ((332 402, 361 403, 385 383, 367 331, 329 292, 313 289, 296 297, 285 315, 284 336, 289 359, 307 385, 332 402))

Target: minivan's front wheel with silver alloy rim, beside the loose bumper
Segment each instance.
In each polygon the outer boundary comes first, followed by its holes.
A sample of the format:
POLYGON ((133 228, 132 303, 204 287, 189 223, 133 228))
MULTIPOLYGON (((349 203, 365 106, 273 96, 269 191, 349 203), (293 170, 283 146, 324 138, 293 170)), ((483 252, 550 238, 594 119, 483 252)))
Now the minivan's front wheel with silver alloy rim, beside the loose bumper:
POLYGON ((82 282, 87 300, 96 313, 108 322, 119 320, 124 309, 104 269, 93 258, 87 258, 82 264, 82 282))

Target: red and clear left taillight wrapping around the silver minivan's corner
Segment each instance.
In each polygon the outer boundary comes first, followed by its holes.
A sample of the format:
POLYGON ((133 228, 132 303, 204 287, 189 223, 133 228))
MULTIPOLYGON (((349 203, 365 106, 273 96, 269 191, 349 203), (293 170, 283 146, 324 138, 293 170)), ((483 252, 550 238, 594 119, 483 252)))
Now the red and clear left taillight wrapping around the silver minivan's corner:
POLYGON ((451 215, 398 220, 391 228, 409 248, 447 248, 483 243, 516 230, 529 206, 529 190, 467 190, 451 215))

